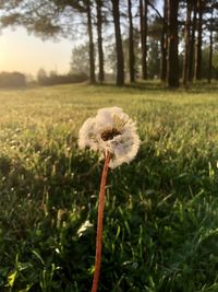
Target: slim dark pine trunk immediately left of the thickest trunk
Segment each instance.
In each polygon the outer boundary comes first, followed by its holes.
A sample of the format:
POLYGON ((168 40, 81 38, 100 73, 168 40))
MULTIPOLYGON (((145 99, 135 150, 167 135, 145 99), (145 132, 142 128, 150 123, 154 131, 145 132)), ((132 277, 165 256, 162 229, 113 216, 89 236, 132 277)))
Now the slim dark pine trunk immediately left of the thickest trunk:
POLYGON ((162 33, 161 33, 161 68, 160 79, 162 82, 167 81, 167 0, 164 3, 164 20, 162 20, 162 33))

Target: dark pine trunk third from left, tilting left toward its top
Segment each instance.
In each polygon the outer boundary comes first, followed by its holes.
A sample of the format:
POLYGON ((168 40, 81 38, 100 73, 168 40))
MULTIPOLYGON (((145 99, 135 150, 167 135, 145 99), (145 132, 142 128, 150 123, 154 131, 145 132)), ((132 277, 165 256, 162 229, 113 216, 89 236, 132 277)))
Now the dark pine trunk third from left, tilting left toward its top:
POLYGON ((112 14, 113 14, 116 49, 117 49, 117 85, 122 86, 124 84, 124 60, 123 60, 122 38, 120 31, 119 0, 112 0, 112 14))

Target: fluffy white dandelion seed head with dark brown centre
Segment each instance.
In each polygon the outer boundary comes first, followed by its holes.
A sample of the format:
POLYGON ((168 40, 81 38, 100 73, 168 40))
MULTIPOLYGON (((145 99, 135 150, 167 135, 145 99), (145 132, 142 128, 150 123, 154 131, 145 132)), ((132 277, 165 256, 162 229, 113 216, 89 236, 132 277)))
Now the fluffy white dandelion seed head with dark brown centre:
POLYGON ((132 161, 140 148, 135 122, 120 107, 106 107, 88 118, 78 132, 78 147, 86 147, 104 154, 109 152, 109 166, 114 168, 132 161))

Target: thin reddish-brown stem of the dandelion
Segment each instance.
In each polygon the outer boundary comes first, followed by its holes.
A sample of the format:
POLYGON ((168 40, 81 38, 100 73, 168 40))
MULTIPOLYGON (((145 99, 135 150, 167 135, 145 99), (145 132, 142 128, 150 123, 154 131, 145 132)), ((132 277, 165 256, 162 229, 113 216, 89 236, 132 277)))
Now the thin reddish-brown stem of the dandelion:
POLYGON ((102 219, 104 219, 104 207, 105 207, 105 188, 108 174, 108 167, 110 162, 110 153, 106 153, 105 165, 100 182, 100 192, 98 201, 98 224, 97 224, 97 236, 96 236, 96 257, 95 257, 95 273, 93 279, 92 292, 97 292, 98 280, 100 275, 100 264, 101 264, 101 249, 102 249, 102 219))

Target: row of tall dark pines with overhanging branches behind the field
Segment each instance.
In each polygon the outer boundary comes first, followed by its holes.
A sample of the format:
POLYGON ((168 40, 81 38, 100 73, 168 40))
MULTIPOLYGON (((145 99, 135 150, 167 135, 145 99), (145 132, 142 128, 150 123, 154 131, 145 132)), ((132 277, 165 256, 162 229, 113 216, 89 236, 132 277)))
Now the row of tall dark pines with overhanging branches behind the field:
POLYGON ((105 82, 113 43, 117 85, 148 79, 149 61, 157 60, 157 75, 169 87, 218 78, 216 0, 0 0, 0 10, 2 27, 87 40, 93 84, 105 82))

